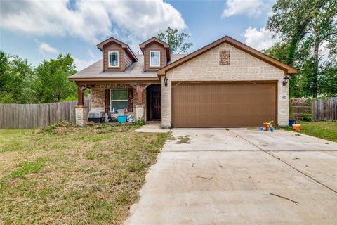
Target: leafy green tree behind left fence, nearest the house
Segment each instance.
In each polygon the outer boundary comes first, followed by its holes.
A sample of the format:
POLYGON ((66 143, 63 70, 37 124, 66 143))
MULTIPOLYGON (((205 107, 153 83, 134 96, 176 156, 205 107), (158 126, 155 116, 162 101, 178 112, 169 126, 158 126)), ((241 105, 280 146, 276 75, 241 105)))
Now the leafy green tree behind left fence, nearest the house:
POLYGON ((39 103, 61 101, 76 94, 77 86, 68 77, 75 72, 74 59, 70 54, 44 60, 36 69, 35 98, 39 103))

